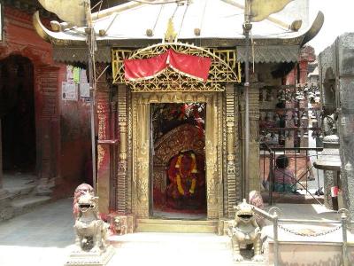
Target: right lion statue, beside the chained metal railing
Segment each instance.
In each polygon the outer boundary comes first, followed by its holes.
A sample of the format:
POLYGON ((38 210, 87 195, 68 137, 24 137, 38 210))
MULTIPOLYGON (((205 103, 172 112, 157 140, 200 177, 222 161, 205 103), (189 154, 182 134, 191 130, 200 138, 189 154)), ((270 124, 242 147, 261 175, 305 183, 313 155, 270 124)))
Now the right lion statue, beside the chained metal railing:
POLYGON ((262 239, 261 231, 256 222, 256 215, 250 204, 243 199, 242 203, 235 206, 235 220, 230 223, 228 235, 231 237, 233 246, 233 255, 236 262, 242 262, 243 257, 240 254, 240 246, 253 245, 253 262, 262 262, 264 257, 261 254, 262 239))

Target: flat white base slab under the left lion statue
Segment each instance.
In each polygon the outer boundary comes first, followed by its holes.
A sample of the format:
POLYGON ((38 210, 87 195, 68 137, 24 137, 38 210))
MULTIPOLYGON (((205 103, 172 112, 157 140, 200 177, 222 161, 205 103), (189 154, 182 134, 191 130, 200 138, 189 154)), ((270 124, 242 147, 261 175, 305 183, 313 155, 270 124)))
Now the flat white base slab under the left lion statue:
POLYGON ((113 246, 107 246, 105 251, 97 252, 74 250, 65 262, 65 266, 104 266, 111 260, 114 253, 113 246))

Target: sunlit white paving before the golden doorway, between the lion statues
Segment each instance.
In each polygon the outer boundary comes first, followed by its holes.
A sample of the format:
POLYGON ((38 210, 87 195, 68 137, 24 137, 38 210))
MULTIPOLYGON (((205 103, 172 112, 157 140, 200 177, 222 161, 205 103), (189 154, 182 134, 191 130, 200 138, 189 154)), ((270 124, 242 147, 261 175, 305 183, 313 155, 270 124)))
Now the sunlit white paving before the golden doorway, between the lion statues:
POLYGON ((146 233, 111 236, 116 254, 109 265, 254 265, 266 262, 234 262, 227 236, 212 233, 146 233), (117 264, 116 264, 117 263, 117 264))

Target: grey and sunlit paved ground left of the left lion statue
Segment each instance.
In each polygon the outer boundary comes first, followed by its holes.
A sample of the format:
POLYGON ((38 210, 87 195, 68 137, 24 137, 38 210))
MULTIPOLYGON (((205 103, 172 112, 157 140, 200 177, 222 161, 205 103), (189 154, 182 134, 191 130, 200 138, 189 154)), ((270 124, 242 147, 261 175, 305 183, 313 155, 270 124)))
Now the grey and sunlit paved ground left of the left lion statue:
POLYGON ((0 265, 64 265, 73 244, 72 199, 0 223, 0 265))

